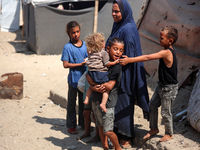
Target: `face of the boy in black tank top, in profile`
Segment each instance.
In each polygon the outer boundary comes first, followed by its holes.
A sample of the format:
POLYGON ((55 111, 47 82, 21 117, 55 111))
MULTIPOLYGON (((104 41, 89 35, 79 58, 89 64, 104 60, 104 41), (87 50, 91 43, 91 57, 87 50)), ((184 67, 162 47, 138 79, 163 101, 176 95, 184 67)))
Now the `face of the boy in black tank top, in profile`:
POLYGON ((160 32, 160 46, 164 47, 164 48, 169 48, 169 46, 172 44, 171 43, 171 39, 168 38, 167 36, 167 31, 161 31, 160 32))

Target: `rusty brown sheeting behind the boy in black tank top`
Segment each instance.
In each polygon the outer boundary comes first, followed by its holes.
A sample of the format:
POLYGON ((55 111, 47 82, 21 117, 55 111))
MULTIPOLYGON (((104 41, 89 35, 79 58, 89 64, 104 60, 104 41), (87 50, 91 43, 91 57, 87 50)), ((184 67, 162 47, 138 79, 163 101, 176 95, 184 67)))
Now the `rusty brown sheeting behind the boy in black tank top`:
MULTIPOLYGON (((179 85, 200 68, 200 1, 151 0, 139 27, 143 54, 158 52, 160 28, 172 25, 179 38, 174 45, 178 59, 179 85)), ((145 62, 145 69, 154 81, 158 80, 158 60, 145 62)))

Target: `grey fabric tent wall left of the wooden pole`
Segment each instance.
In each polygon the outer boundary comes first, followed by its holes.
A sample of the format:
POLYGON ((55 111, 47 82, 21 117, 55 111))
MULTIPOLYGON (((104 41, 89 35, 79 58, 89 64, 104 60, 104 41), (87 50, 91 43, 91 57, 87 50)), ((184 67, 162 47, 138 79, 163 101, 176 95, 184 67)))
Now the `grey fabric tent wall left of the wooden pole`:
POLYGON ((76 20, 81 25, 81 39, 92 33, 93 8, 61 10, 48 5, 24 4, 26 45, 37 54, 61 54, 69 42, 66 24, 76 20))

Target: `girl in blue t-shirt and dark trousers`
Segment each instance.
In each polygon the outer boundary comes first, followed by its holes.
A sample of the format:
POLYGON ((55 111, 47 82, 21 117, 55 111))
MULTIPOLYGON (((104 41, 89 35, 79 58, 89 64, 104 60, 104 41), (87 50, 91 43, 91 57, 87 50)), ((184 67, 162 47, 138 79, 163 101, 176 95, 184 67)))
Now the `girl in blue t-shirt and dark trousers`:
POLYGON ((68 105, 67 105, 67 128, 70 134, 77 134, 76 130, 76 97, 79 99, 79 125, 84 127, 83 117, 83 93, 77 88, 77 83, 86 70, 84 59, 87 55, 87 47, 80 38, 80 25, 76 21, 71 21, 66 26, 66 32, 70 38, 62 52, 61 60, 64 68, 70 68, 68 74, 68 105))

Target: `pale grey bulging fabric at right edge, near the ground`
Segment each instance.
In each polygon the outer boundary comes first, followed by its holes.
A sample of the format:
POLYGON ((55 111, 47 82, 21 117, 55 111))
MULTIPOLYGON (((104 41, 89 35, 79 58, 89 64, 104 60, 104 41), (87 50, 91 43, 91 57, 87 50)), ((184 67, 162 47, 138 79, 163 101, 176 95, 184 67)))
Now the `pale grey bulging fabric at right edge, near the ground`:
POLYGON ((191 126, 200 132, 200 70, 197 73, 187 109, 187 119, 191 126))

